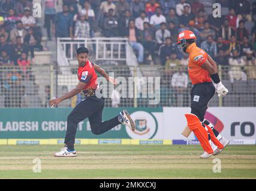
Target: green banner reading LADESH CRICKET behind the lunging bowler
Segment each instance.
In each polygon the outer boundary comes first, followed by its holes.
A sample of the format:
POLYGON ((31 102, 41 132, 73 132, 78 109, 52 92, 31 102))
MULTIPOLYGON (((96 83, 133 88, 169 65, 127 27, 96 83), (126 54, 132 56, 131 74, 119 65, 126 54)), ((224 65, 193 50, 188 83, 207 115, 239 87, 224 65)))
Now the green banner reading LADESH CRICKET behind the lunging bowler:
MULTIPOLYGON (((156 121, 152 112, 162 112, 162 107, 158 108, 110 108, 103 110, 103 121, 114 118, 127 109, 129 113, 146 112, 156 121)), ((0 109, 0 139, 1 138, 64 138, 67 128, 67 116, 72 108, 42 108, 42 109, 0 109)), ((135 121, 143 124, 145 119, 135 121)), ((141 128, 142 129, 142 128, 141 128)), ((153 134, 150 135, 153 137, 153 134)), ((77 125, 76 138, 132 138, 124 125, 118 125, 112 130, 95 135, 91 132, 88 119, 77 125)))

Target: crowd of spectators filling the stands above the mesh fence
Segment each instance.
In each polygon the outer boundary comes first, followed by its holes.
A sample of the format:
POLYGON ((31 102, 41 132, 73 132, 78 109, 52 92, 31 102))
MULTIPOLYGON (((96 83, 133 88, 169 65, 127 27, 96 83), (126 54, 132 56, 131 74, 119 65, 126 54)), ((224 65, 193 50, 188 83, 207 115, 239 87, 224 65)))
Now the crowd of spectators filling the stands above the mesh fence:
MULTIPOLYGON (((34 63, 34 51, 42 51, 42 32, 32 16, 32 0, 0 2, 0 66, 27 69, 34 63)), ((256 1, 249 0, 43 0, 44 27, 53 37, 92 38, 95 32, 106 37, 127 37, 139 64, 164 66, 177 92, 188 86, 183 68, 188 57, 179 53, 177 34, 185 29, 197 36, 197 45, 212 56, 234 81, 256 80, 256 1), (61 12, 56 4, 62 3, 61 12), (221 17, 213 17, 213 3, 221 4, 221 17), (180 66, 176 73, 172 67, 180 66), (249 67, 255 66, 255 67, 249 67), (175 82, 175 83, 174 83, 175 82), (177 84, 180 84, 177 86, 177 84), (177 87, 176 87, 177 86, 177 87)), ((0 73, 0 82, 2 82, 0 73)), ((19 76, 20 75, 20 76, 19 76)), ((12 80, 10 80, 12 81, 12 80)))

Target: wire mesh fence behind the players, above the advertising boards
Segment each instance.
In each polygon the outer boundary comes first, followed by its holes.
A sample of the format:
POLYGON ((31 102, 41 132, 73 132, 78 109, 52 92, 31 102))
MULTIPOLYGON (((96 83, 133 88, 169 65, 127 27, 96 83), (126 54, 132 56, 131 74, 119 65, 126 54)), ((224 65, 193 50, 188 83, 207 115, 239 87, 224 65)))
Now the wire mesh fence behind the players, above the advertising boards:
MULTIPOLYGON (((188 107, 191 103, 191 81, 186 66, 101 66, 110 76, 121 81, 122 90, 119 107, 188 107), (141 75, 138 75, 138 70, 141 75), (178 74, 180 73, 180 74, 178 74), (134 81, 134 79, 136 79, 134 81), (186 81, 187 79, 187 81, 186 81), (175 82, 174 82, 175 81, 175 82), (133 84, 133 85, 132 85, 133 84), (180 85, 179 85, 180 84, 180 85), (140 87, 140 88, 138 88, 140 87), (159 102, 149 103, 154 95, 159 102), (135 96, 137 95, 137 98, 135 96), (126 97, 125 97, 126 96, 126 97)), ((222 83, 228 88, 228 96, 216 94, 209 103, 212 107, 255 107, 256 106, 256 67, 219 66, 222 83)), ((77 85, 77 66, 41 65, 22 69, 14 66, 0 66, 0 108, 4 107, 49 107, 48 101, 60 97, 77 85)), ((101 82, 102 83, 102 82, 101 82)), ((113 87, 103 87, 105 106, 112 105, 113 87)), ((116 94, 118 95, 118 94, 116 94)), ((117 96, 118 97, 118 96, 117 96)), ((65 100, 59 107, 74 107, 83 95, 65 100)), ((116 98, 116 97, 115 97, 116 98)), ((118 99, 118 98, 116 98, 118 99)))

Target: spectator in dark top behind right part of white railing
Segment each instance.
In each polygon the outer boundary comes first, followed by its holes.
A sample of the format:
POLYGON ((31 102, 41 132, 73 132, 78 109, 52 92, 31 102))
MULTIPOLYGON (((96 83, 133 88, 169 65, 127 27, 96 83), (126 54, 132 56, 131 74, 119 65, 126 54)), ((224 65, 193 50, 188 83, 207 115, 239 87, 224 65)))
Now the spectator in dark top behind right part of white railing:
POLYGON ((109 14, 104 19, 103 35, 106 37, 118 36, 118 19, 114 16, 114 10, 110 8, 109 14))

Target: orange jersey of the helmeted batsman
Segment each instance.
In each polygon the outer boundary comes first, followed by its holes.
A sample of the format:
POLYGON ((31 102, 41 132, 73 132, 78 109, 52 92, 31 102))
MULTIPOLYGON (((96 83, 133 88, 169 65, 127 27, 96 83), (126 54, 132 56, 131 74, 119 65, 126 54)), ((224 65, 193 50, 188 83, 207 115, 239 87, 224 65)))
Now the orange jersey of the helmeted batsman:
POLYGON ((201 67, 208 59, 208 54, 201 48, 198 48, 195 42, 186 49, 186 52, 189 54, 188 75, 192 84, 212 82, 209 72, 201 67))

